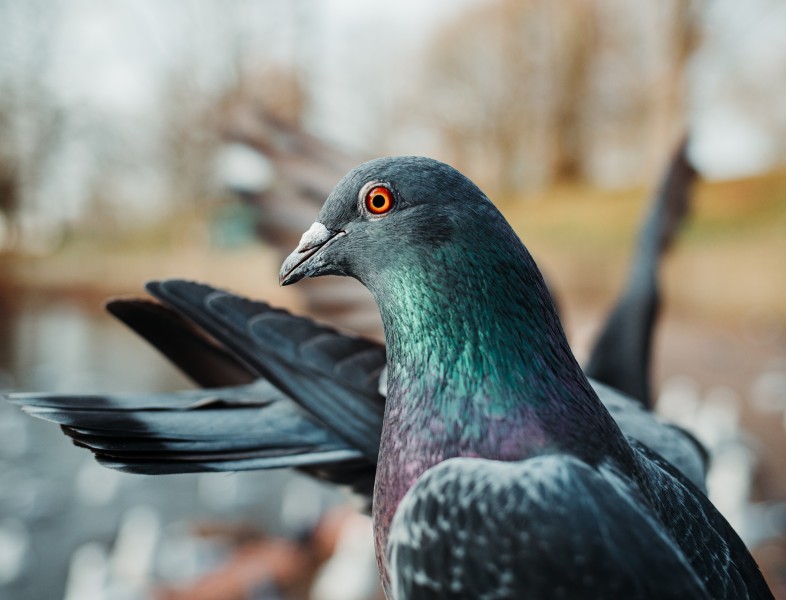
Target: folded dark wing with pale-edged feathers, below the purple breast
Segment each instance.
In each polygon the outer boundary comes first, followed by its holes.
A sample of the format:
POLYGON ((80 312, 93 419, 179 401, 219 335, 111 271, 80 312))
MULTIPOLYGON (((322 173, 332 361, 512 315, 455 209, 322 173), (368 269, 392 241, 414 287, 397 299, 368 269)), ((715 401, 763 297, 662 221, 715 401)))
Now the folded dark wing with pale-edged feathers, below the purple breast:
POLYGON ((409 600, 712 597, 622 479, 561 455, 427 471, 393 519, 388 565, 409 600))

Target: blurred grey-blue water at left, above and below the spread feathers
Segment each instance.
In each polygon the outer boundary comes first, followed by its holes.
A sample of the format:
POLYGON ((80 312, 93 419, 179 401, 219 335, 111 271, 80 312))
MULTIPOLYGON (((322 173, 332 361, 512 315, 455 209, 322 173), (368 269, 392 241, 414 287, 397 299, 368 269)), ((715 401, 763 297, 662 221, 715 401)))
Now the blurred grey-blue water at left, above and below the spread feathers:
MULTIPOLYGON (((191 384, 100 311, 26 298, 0 299, 0 387, 90 393, 191 384)), ((282 490, 293 477, 110 471, 59 428, 0 402, 0 599, 148 597, 152 582, 193 577, 223 556, 190 533, 195 521, 282 533, 282 490)), ((312 493, 330 503, 322 488, 312 493)))

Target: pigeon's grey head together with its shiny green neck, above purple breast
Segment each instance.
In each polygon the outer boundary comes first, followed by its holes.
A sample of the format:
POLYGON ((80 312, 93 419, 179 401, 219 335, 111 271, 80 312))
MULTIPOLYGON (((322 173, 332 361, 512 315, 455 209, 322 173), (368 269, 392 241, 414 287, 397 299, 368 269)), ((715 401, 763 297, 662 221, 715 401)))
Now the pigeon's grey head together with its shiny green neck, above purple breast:
MULTIPOLYGON (((521 240, 475 184, 436 160, 373 160, 338 183, 280 281, 328 274, 354 277, 374 296, 389 390, 403 373, 428 374, 434 386, 462 388, 487 407, 481 396, 517 402, 523 364, 538 376, 549 371, 542 381, 578 370, 521 240)), ((530 379, 531 398, 547 394, 530 379)))

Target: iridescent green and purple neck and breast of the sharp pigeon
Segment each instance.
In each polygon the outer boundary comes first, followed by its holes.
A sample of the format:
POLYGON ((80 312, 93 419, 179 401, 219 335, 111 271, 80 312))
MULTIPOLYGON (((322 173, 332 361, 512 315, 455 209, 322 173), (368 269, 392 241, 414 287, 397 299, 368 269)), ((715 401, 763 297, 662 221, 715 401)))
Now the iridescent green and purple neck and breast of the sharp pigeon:
POLYGON ((431 252, 410 247, 364 280, 388 351, 374 494, 380 557, 401 498, 446 459, 561 452, 595 463, 629 454, 531 256, 496 208, 477 202, 472 220, 455 223, 431 252))

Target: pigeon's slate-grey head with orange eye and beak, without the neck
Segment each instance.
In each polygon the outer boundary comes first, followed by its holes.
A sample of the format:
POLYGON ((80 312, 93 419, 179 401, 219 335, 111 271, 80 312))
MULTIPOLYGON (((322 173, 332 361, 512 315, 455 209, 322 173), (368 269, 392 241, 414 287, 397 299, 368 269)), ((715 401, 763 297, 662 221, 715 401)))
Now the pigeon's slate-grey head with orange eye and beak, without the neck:
POLYGON ((496 213, 464 175, 423 157, 372 160, 348 173, 284 261, 280 282, 349 275, 373 288, 380 274, 412 268, 467 227, 496 213))

